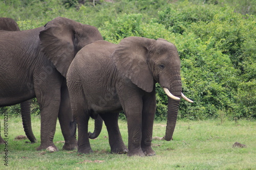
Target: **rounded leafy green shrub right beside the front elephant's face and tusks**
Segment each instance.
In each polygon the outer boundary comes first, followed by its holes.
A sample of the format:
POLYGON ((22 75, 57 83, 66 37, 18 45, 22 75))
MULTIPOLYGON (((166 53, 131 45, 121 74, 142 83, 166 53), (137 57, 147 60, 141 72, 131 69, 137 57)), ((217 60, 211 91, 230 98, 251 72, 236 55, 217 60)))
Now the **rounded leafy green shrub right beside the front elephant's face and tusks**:
POLYGON ((180 117, 202 119, 216 117, 217 111, 230 108, 237 71, 229 57, 195 34, 176 36, 181 58, 183 93, 195 103, 181 101, 180 117), (230 77, 231 76, 231 77, 230 77))

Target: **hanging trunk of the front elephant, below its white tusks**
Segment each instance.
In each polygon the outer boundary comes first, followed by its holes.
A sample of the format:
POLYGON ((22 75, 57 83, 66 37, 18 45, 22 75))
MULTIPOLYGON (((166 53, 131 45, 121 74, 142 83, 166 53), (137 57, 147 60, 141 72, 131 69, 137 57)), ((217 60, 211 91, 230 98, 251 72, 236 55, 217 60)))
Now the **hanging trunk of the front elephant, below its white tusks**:
POLYGON ((165 140, 167 141, 173 138, 179 106, 180 100, 173 100, 168 97, 167 125, 165 132, 165 140))

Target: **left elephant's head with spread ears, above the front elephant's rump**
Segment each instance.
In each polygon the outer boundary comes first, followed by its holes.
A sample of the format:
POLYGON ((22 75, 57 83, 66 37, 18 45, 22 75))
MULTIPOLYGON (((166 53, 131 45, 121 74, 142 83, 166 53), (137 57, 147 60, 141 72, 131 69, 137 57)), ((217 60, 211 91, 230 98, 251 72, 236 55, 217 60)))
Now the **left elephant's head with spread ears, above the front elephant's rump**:
POLYGON ((48 22, 45 29, 40 32, 39 38, 42 52, 64 77, 76 53, 83 46, 103 40, 96 27, 82 25, 63 17, 48 22))

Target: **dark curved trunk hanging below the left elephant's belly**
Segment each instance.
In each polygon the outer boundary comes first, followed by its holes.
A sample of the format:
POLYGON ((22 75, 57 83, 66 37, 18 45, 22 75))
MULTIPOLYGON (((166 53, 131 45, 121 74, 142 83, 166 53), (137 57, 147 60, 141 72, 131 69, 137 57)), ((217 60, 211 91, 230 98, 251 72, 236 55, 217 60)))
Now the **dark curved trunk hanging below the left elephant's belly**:
POLYGON ((25 134, 31 143, 34 143, 36 142, 36 138, 31 127, 30 100, 20 103, 20 109, 22 111, 22 122, 25 134))

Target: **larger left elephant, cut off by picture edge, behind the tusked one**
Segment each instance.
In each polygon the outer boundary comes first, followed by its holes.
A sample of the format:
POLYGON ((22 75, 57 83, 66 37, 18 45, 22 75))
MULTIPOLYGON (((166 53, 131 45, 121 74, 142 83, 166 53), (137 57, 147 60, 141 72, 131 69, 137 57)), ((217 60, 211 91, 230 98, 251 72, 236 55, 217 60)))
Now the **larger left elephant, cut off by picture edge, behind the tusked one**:
POLYGON ((66 84, 66 72, 75 54, 85 45, 102 40, 99 31, 68 18, 57 17, 46 27, 0 31, 0 106, 10 106, 34 97, 40 106, 41 143, 37 150, 53 147, 57 117, 65 139, 63 150, 77 146, 66 84), (39 33, 45 39, 39 39, 39 33), (49 58, 65 58, 61 67, 49 58))

